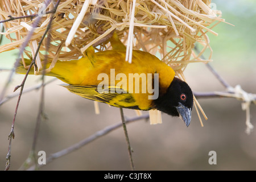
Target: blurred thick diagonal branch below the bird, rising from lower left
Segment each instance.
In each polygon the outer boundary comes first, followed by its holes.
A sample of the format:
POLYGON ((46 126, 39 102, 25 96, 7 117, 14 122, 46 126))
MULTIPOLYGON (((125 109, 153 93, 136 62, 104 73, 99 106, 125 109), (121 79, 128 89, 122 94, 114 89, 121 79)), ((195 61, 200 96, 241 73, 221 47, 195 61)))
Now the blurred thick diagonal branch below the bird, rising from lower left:
MULTIPOLYGON (((134 121, 138 121, 138 120, 141 120, 141 119, 148 119, 149 118, 149 114, 144 114, 144 115, 140 115, 140 116, 136 116, 136 117, 133 117, 133 118, 127 118, 125 123, 126 125, 128 123, 131 123, 131 122, 134 122, 134 121)), ((122 122, 118 122, 114 125, 111 125, 111 126, 107 126, 105 127, 104 129, 100 130, 100 131, 97 131, 96 133, 94 133, 93 135, 90 135, 88 138, 85 138, 83 140, 81 140, 80 142, 76 143, 76 144, 73 144, 72 146, 68 147, 68 148, 65 148, 59 152, 55 152, 51 155, 49 155, 49 157, 46 159, 46 164, 49 164, 51 163, 53 160, 55 159, 58 159, 64 155, 67 155, 73 151, 76 151, 78 150, 79 148, 85 146, 86 144, 90 143, 90 142, 93 142, 94 140, 100 138, 100 137, 103 137, 104 135, 114 131, 115 129, 118 129, 119 127, 122 127, 123 126, 123 123, 122 122)), ((38 165, 38 168, 41 168, 43 166, 46 166, 46 165, 38 165)), ((34 166, 31 166, 30 168, 28 168, 27 170, 30 171, 30 170, 35 170, 36 167, 35 165, 34 166)))

